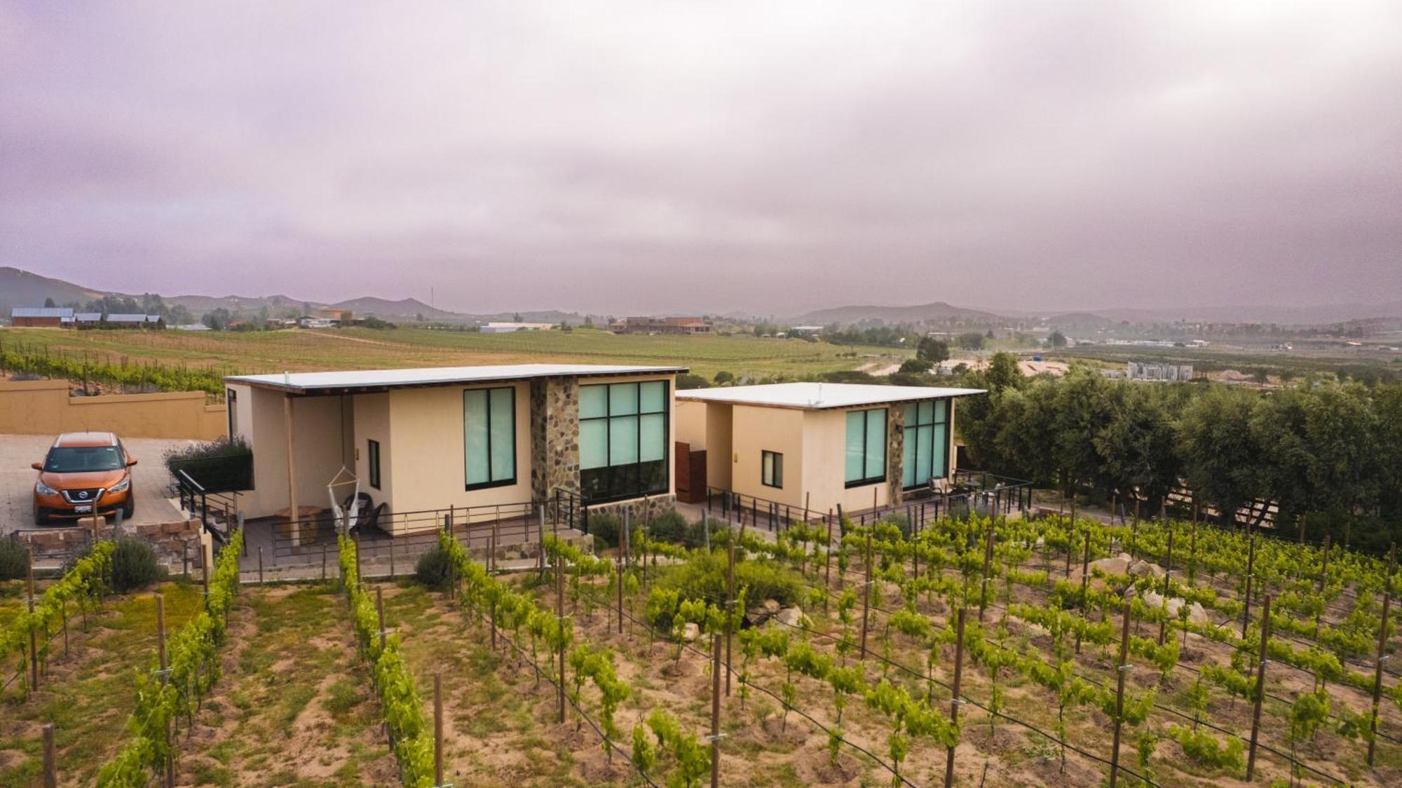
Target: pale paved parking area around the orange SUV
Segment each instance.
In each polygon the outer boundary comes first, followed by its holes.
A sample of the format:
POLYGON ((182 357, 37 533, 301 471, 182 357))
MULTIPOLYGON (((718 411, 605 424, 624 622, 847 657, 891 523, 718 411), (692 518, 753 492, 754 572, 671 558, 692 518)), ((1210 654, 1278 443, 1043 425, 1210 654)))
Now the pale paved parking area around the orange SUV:
MULTIPOLYGON (((34 481, 38 478, 38 471, 31 468, 29 463, 42 461, 55 437, 0 435, 0 534, 38 527, 34 522, 34 481)), ((168 523, 181 519, 179 509, 171 503, 170 474, 165 473, 161 457, 167 449, 193 442, 132 437, 123 439, 122 443, 139 460, 132 468, 136 488, 136 516, 132 522, 168 523)))

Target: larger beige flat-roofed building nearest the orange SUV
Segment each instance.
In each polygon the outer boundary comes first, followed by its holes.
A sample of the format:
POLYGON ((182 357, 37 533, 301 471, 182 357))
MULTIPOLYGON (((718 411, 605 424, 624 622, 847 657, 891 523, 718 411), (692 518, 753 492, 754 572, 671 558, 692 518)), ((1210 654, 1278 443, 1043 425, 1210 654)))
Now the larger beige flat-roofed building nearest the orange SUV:
MULTIPOLYGON (((247 517, 329 506, 353 474, 394 515, 545 501, 672 499, 684 367, 515 365, 227 377, 229 433, 254 451, 247 517)), ((306 516, 304 513, 301 516, 306 516)))

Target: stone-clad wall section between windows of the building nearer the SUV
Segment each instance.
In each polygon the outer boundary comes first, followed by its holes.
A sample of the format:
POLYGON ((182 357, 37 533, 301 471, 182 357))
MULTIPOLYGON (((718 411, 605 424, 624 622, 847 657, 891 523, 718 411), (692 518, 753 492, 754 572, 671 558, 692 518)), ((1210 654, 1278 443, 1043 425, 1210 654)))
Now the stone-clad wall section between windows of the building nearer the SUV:
POLYGON ((530 381, 530 488, 545 501, 554 489, 579 492, 579 380, 530 381))

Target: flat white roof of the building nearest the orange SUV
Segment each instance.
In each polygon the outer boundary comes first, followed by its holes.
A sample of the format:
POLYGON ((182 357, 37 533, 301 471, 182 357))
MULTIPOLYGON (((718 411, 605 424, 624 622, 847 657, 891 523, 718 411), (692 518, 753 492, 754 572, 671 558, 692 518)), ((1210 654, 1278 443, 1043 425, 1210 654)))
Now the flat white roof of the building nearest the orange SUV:
POLYGON ((345 388, 398 388, 409 386, 451 386, 492 380, 523 380, 557 376, 599 374, 673 374, 687 372, 680 366, 613 365, 502 365, 443 366, 425 369, 365 369, 345 372, 294 372, 283 374, 234 374, 227 383, 245 383, 279 391, 325 391, 345 388))

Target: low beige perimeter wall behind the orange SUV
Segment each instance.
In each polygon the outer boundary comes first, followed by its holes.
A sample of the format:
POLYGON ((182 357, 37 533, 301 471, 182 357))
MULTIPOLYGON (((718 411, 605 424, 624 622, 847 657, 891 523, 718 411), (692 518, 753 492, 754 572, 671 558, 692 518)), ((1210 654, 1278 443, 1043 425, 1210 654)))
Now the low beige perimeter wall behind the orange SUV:
POLYGON ((203 391, 69 397, 66 380, 0 381, 0 435, 101 430, 213 440, 227 430, 227 412, 205 402, 203 391))

